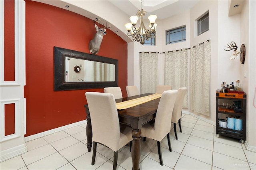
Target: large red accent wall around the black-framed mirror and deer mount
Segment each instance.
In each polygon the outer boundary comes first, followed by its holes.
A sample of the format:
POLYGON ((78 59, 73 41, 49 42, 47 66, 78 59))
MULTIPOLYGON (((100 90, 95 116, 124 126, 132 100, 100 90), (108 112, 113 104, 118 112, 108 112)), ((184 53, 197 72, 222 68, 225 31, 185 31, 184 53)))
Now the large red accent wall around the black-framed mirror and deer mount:
MULTIPOLYGON (((54 46, 89 52, 96 34, 93 20, 40 2, 26 1, 26 122, 27 134, 44 132, 86 119, 86 91, 54 91, 54 46)), ((107 30, 100 56, 118 59, 118 86, 127 85, 127 43, 107 30)))

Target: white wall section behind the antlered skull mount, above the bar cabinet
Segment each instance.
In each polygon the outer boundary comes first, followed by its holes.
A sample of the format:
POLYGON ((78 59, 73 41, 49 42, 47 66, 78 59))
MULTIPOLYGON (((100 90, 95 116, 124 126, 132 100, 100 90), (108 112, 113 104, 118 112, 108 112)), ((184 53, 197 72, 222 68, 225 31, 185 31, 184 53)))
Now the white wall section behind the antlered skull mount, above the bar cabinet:
MULTIPOLYGON (((238 50, 240 50, 240 22, 241 14, 228 16, 228 1, 220 1, 218 6, 219 19, 219 40, 218 40, 218 87, 222 82, 230 84, 232 81, 240 80, 240 58, 230 60, 234 50, 225 51, 227 44, 231 41, 236 42, 238 50)), ((243 86, 242 80, 240 81, 243 86)))

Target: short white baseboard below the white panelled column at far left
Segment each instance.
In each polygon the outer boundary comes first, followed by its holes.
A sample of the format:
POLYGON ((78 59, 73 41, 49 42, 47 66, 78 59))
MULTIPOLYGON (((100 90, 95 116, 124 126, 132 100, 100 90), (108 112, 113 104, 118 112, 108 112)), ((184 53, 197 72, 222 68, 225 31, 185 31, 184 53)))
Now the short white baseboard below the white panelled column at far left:
POLYGON ((12 147, 0 152, 0 162, 14 158, 15 156, 24 154, 27 152, 26 144, 21 144, 19 146, 12 147))

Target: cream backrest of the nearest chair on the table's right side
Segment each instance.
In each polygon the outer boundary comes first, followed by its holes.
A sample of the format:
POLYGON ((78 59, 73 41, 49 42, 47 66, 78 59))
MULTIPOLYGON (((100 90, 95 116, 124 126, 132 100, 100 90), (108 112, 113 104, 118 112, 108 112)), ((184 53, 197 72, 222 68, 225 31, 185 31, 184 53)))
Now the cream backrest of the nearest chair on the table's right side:
POLYGON ((154 124, 155 131, 157 132, 156 139, 158 141, 161 141, 164 136, 166 136, 166 134, 170 132, 170 119, 172 119, 172 110, 177 95, 177 90, 164 91, 164 93, 162 94, 162 97, 158 104, 158 109, 156 111, 156 119, 154 124))

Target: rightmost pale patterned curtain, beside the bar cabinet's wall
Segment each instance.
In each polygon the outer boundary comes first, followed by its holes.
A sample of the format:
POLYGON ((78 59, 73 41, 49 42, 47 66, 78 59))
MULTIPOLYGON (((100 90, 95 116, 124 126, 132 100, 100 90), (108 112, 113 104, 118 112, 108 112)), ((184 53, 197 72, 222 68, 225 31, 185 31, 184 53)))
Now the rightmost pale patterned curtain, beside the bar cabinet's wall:
POLYGON ((210 116, 210 41, 193 48, 190 54, 190 110, 210 116))

